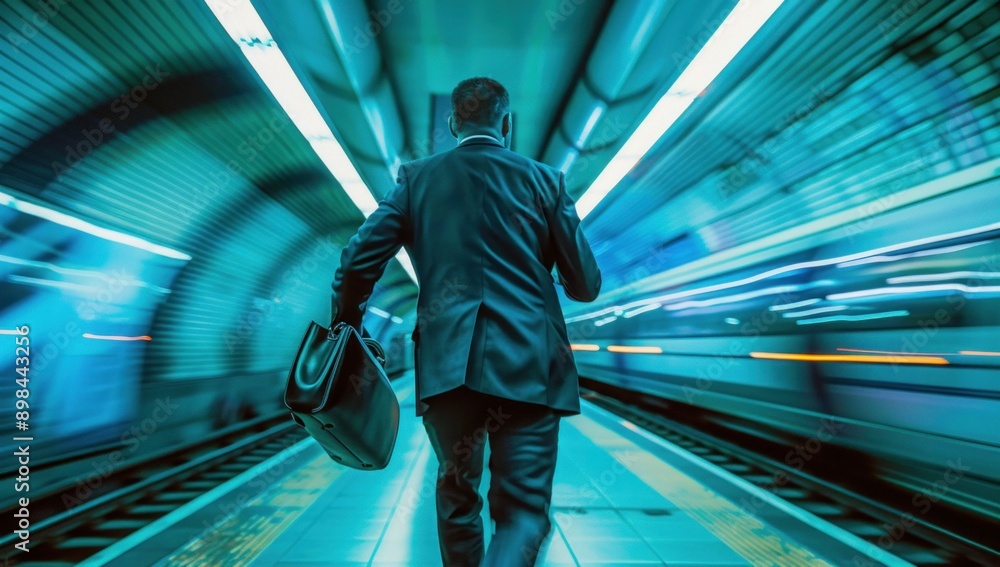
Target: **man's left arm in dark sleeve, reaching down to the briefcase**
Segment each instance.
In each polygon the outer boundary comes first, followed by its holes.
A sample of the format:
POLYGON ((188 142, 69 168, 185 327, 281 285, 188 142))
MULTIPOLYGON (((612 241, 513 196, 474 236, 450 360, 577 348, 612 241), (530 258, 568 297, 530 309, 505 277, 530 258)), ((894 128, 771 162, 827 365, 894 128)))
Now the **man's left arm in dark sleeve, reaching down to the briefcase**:
POLYGON ((409 211, 409 187, 400 166, 396 187, 379 202, 340 255, 332 285, 333 320, 361 328, 375 282, 400 247, 410 241, 409 211))

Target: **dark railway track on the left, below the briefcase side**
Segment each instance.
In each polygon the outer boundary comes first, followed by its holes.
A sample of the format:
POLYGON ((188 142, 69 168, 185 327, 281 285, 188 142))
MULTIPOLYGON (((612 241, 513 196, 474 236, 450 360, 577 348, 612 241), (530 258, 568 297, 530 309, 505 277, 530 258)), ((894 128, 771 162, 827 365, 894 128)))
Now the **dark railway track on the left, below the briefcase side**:
MULTIPOLYGON (((23 566, 77 565, 304 437, 288 412, 280 411, 123 467, 105 480, 104 486, 111 488, 69 509, 61 490, 32 498, 31 513, 42 520, 32 524, 30 552, 7 559, 23 566)), ((84 460, 94 458, 99 456, 84 460)), ((0 539, 8 550, 16 541, 15 535, 0 539)))

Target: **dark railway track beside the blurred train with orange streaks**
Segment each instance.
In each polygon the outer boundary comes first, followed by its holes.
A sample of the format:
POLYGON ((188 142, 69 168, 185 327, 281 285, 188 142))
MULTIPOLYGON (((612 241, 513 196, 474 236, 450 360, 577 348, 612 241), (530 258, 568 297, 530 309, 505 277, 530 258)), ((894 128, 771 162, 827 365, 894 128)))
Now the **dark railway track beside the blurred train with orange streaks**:
POLYGON ((897 489, 867 478, 859 483, 857 478, 838 476, 839 469, 822 477, 815 474, 818 467, 806 472, 780 459, 787 454, 787 444, 759 439, 720 425, 724 420, 692 417, 685 411, 671 411, 668 418, 663 415, 663 406, 648 398, 624 401, 618 397, 622 393, 581 388, 582 396, 590 402, 914 565, 1000 565, 998 541, 994 534, 992 543, 987 543, 989 530, 985 526, 969 530, 979 536, 975 538, 915 518, 912 525, 900 530, 903 533, 889 533, 900 518, 907 517, 905 510, 887 502, 898 500, 893 498, 897 489), (680 418, 675 419, 675 414, 680 418), (779 478, 787 478, 780 485, 775 483, 779 471, 784 475, 779 478), (858 488, 861 485, 865 488, 858 488), (889 496, 877 498, 872 493, 889 496), (891 539, 886 539, 887 534, 891 539))

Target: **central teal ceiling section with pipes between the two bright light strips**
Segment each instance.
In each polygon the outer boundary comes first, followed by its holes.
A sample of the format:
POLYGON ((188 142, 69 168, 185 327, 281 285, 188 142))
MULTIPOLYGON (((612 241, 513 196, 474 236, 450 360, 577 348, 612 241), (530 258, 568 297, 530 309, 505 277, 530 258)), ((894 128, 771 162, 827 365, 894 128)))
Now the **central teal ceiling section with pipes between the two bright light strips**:
POLYGON ((400 162, 449 138, 432 96, 486 75, 510 91, 514 149, 563 167, 579 197, 735 2, 678 0, 649 11, 565 0, 516 0, 502 10, 443 1, 253 3, 376 196, 400 162), (605 112, 580 138, 581 117, 597 106, 605 112), (578 159, 563 163, 568 152, 578 159))

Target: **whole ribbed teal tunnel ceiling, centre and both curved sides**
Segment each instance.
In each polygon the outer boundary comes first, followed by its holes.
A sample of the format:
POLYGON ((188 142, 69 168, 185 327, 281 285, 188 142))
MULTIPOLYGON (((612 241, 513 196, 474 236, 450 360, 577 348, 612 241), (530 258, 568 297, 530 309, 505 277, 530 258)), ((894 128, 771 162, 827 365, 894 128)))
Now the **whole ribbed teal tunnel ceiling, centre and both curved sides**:
MULTIPOLYGON (((376 196, 426 153, 431 95, 488 75, 511 91, 516 149, 564 167, 579 197, 734 2, 253 4, 376 196), (606 110, 582 136, 595 105, 606 110)), ((39 6, 5 3, 4 37, 39 6)), ((586 219, 606 289, 987 159, 983 146, 929 161, 951 132, 995 116, 996 74, 980 70, 995 68, 984 30, 997 9, 914 9, 786 2, 586 219)), ((71 2, 29 35, 0 53, 0 184, 197 261, 232 254, 233 235, 266 235, 266 253, 208 262, 245 270, 233 293, 246 302, 297 261, 295 246, 343 245, 362 222, 202 2, 71 2), (142 103, 120 112, 134 91, 142 103), (103 119, 113 132, 94 134, 103 119), (269 220, 272 205, 288 214, 269 220)), ((317 297, 333 268, 310 283, 317 297)), ((393 263, 375 304, 404 315, 415 294, 393 263)))

